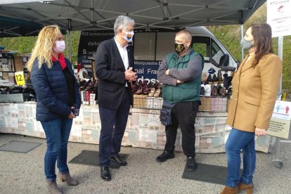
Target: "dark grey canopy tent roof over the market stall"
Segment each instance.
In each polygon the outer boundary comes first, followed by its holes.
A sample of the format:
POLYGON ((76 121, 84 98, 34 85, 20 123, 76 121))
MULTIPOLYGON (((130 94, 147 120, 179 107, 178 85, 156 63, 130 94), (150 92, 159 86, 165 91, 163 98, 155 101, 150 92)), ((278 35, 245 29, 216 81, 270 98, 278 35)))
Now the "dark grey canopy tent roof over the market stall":
POLYGON ((118 15, 135 29, 178 30, 188 26, 243 24, 266 0, 0 0, 0 37, 32 35, 43 25, 63 30, 112 30, 118 15), (11 18, 21 25, 9 25, 11 18), (30 27, 32 29, 30 29, 30 27), (26 29, 28 32, 20 32, 26 29), (9 34, 4 32, 10 32, 9 34), (12 32, 12 33, 11 33, 12 32))

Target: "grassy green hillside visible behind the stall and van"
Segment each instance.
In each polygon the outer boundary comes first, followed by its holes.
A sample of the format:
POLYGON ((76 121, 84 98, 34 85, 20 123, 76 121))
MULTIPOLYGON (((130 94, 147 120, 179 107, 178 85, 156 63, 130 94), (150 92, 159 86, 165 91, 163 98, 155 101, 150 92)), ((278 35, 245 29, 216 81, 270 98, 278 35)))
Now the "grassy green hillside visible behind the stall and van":
MULTIPOLYGON (((261 6, 252 17, 245 22, 244 31, 253 24, 266 22, 266 4, 261 6)), ((241 60, 240 54, 240 25, 224 25, 224 26, 212 26, 207 27, 222 44, 228 48, 233 56, 241 60)), ((72 63, 77 62, 77 49, 79 44, 80 32, 72 32, 72 63)), ((68 36, 65 36, 67 41, 68 36)), ((20 53, 30 53, 34 42, 37 37, 17 37, 17 38, 0 38, 0 46, 4 46, 6 49, 19 51, 20 53)), ((278 38, 273 39, 273 47, 275 53, 278 48, 278 38)), ((291 36, 284 37, 283 41, 283 86, 282 88, 287 92, 291 93, 291 36)), ((70 56, 69 49, 66 49, 65 56, 70 56)))

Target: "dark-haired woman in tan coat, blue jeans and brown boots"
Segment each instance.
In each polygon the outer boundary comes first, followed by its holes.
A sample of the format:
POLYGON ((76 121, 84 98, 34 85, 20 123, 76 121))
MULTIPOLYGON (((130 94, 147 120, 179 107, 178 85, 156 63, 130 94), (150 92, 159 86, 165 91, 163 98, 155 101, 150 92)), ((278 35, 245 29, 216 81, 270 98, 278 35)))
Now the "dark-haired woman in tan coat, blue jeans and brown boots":
POLYGON ((276 102, 282 62, 273 54, 271 27, 252 25, 240 42, 247 56, 233 77, 227 124, 233 127, 226 141, 228 174, 221 193, 252 193, 256 166, 254 136, 264 136, 276 102), (240 176, 240 150, 243 174, 240 176))

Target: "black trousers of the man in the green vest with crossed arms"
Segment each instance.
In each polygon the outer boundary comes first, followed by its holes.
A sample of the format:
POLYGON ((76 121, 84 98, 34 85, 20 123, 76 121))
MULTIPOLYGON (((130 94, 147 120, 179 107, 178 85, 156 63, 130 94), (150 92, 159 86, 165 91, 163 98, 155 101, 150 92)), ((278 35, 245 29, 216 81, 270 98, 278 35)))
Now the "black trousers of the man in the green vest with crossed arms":
POLYGON ((172 124, 166 127, 167 143, 164 150, 173 152, 180 126, 182 132, 182 148, 187 156, 195 157, 195 119, 199 108, 199 101, 176 103, 172 109, 172 124))

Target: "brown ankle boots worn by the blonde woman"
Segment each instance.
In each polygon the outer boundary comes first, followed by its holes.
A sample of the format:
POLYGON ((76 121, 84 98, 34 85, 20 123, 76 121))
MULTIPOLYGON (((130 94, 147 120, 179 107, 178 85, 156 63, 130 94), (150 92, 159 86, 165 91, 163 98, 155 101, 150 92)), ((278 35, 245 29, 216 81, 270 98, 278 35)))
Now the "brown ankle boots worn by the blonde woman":
MULTIPOLYGON (((67 174, 60 174, 58 173, 58 178, 62 182, 67 182, 68 186, 77 186, 78 181, 76 179, 72 179, 72 176, 70 176, 70 173, 67 174)), ((46 180, 46 188, 48 189, 48 192, 51 194, 61 194, 62 191, 60 188, 58 188, 56 181, 46 180)))

